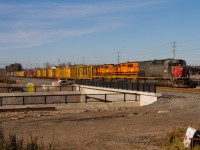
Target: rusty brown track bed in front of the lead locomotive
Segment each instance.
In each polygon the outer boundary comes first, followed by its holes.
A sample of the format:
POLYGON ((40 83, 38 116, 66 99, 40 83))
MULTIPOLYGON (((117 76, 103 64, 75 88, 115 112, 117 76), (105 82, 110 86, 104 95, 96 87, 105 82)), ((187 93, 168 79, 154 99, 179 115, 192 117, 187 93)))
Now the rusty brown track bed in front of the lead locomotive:
POLYGON ((156 90, 200 94, 200 89, 198 88, 156 87, 156 90))

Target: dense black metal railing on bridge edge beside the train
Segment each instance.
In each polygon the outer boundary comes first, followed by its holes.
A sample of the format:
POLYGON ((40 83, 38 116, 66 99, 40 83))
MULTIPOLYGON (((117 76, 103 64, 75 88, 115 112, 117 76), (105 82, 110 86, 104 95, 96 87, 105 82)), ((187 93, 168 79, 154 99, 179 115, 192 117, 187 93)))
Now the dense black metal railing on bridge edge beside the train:
POLYGON ((139 82, 124 82, 124 81, 95 81, 95 80, 76 80, 75 84, 95 86, 103 88, 113 88, 131 91, 142 91, 156 93, 156 84, 139 83, 139 82))

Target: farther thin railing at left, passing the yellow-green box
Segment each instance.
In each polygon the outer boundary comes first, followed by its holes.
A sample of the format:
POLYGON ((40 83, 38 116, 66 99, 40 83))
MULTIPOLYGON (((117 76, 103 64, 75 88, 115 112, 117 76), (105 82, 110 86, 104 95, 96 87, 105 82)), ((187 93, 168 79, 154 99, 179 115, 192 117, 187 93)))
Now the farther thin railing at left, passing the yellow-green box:
MULTIPOLYGON (((34 86, 34 87, 0 87, 0 93, 13 92, 51 92, 51 91, 76 91, 75 86, 34 86)), ((78 87, 80 91, 80 87, 78 87)))

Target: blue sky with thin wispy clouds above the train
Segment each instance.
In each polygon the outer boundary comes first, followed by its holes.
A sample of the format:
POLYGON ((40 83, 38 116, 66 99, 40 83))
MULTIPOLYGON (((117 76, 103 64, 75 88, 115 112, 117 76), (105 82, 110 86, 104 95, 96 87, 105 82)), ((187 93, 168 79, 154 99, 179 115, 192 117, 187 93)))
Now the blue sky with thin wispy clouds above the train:
POLYGON ((0 67, 176 58, 200 65, 199 0, 0 0, 0 67), (84 58, 83 58, 84 57, 84 58))

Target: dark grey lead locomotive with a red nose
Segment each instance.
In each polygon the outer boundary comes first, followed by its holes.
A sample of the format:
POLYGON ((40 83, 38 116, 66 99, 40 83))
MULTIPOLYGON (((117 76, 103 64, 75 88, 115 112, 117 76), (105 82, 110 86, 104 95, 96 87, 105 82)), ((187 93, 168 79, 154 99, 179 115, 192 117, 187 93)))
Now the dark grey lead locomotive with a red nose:
POLYGON ((186 62, 182 59, 143 61, 139 65, 139 80, 156 80, 158 85, 190 87, 192 82, 186 62))

